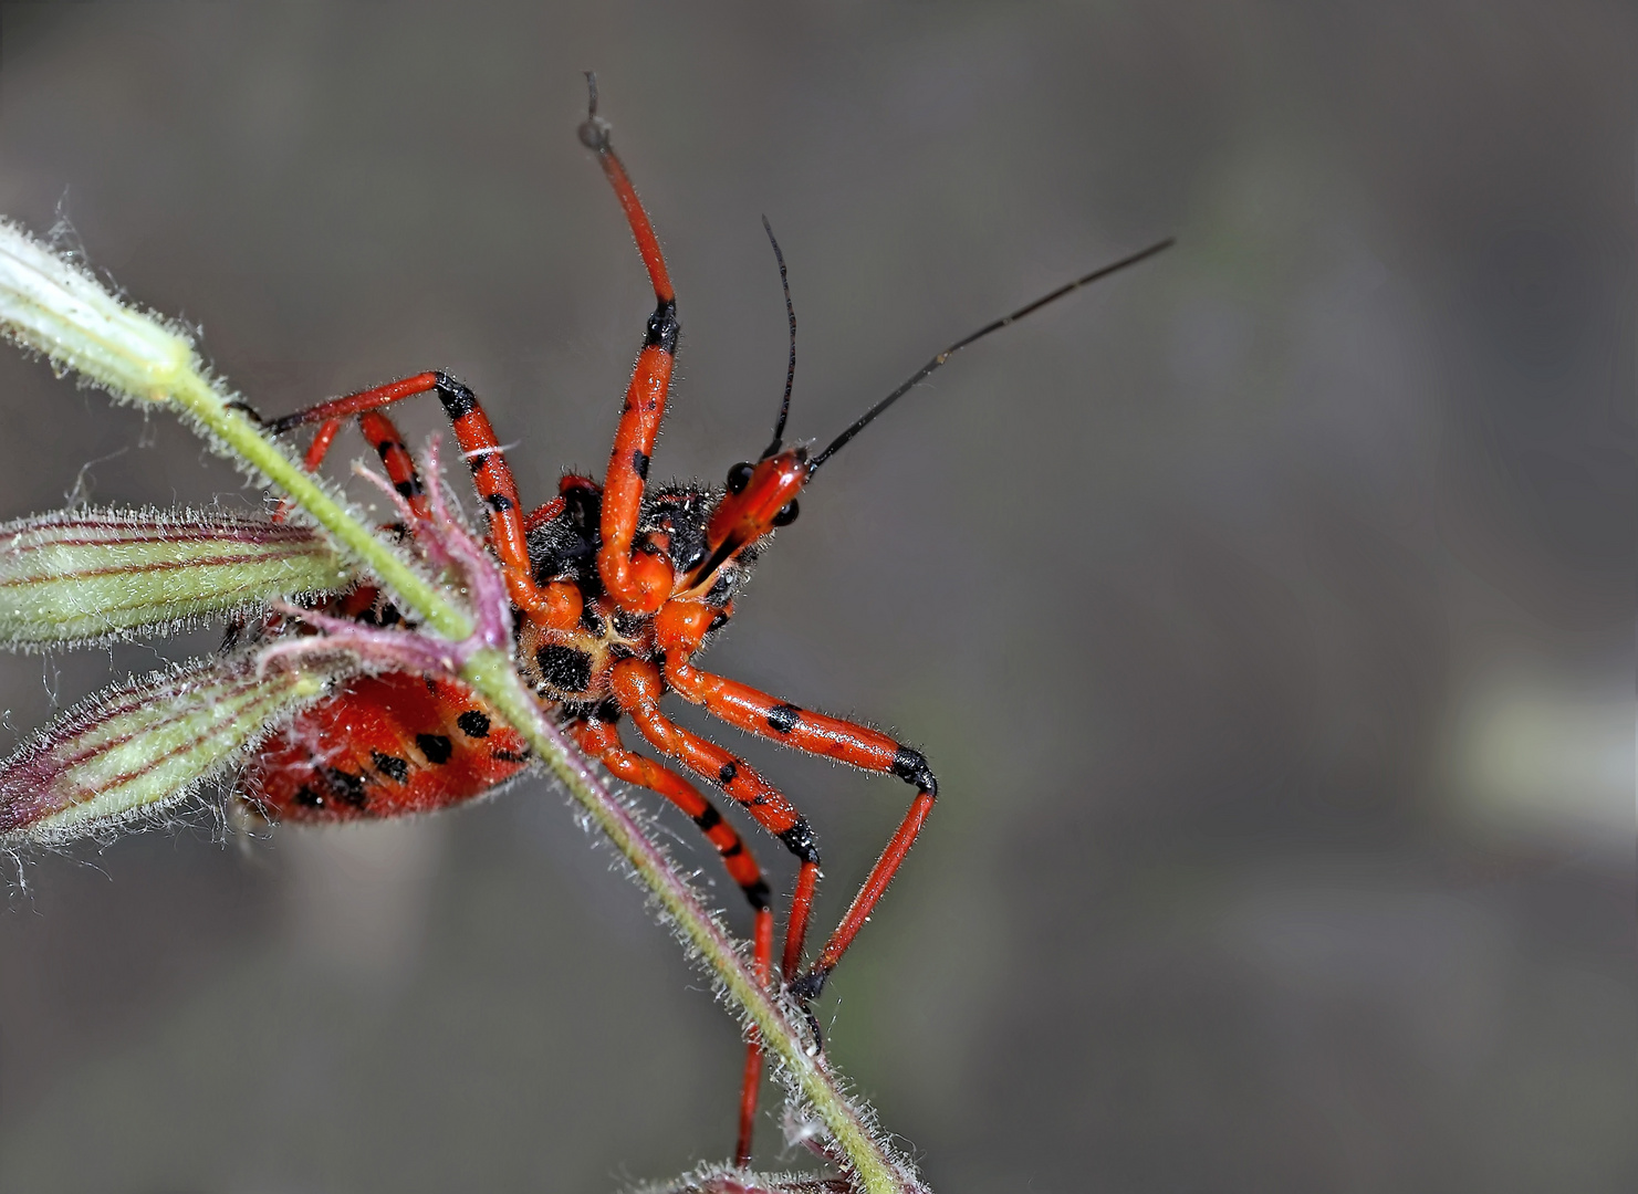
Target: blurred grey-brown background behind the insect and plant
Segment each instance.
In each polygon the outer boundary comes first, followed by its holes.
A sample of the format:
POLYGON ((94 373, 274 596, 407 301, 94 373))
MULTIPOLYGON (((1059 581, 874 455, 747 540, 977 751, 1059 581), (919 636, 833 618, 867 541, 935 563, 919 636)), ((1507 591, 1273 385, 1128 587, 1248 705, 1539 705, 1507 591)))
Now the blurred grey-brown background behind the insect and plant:
MULTIPOLYGON (((763 213, 812 437, 1174 233, 840 454, 709 657, 940 776, 830 1048, 939 1191, 1631 1191, 1635 31, 5 5, 0 210, 200 323, 262 411, 465 377, 536 500, 606 460, 652 305, 583 69, 680 292, 657 480, 767 441, 763 213)), ((0 427, 0 518, 260 504, 11 351, 0 427)), ((216 640, 5 660, 5 745, 216 640)), ((809 811, 834 922, 909 789, 717 732, 809 811)), ((735 1029, 544 781, 213 837, 11 876, 0 1189, 603 1191, 727 1153, 735 1029)), ((760 1160, 801 1165, 773 1115, 760 1160)))

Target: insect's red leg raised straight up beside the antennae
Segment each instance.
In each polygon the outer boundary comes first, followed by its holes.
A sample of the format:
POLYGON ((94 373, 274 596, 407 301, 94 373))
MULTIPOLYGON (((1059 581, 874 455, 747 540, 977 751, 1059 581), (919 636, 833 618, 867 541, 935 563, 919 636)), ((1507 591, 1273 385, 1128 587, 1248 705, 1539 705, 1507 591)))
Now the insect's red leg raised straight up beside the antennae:
POLYGON ((649 270, 654 285, 654 314, 649 316, 649 334, 626 390, 626 406, 621 409, 619 429, 614 432, 614 450, 609 454, 608 475, 603 480, 603 547, 598 550, 598 575, 603 586, 629 613, 654 613, 668 596, 675 577, 670 562, 658 554, 632 550, 637 534, 637 518, 642 511, 642 491, 649 478, 649 457, 654 439, 660 434, 665 418, 665 396, 672 383, 672 364, 676 355, 676 293, 672 277, 665 272, 665 257, 654 224, 642 210, 637 190, 626 175, 609 129, 595 111, 580 126, 580 139, 595 149, 603 174, 614 188, 637 252, 649 270))

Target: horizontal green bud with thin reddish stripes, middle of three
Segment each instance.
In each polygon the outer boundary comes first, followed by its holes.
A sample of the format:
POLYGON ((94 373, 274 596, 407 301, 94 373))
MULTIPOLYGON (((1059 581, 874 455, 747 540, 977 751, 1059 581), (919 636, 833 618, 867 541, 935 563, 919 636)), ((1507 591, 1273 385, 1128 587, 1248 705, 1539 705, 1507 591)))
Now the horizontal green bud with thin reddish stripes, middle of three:
POLYGON ((0 526, 0 642, 106 642, 352 581, 316 531, 224 513, 62 511, 0 526))

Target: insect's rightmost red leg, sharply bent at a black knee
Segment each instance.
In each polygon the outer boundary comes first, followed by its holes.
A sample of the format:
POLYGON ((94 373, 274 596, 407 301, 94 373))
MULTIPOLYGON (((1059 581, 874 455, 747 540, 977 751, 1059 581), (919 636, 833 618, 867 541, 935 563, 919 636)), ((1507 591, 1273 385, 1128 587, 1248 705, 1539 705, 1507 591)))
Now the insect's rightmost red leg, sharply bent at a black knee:
POLYGON ((888 840, 865 884, 853 896, 853 902, 835 932, 830 934, 819 960, 791 988, 799 999, 812 999, 824 989, 835 963, 853 943, 853 937, 863 929, 898 873, 904 855, 916 843, 916 835, 939 798, 939 781, 919 750, 901 745, 880 730, 811 709, 799 709, 749 685, 699 672, 681 655, 667 657, 665 680, 683 699, 704 706, 714 717, 749 734, 771 739, 809 755, 835 758, 867 771, 896 775, 906 783, 916 785, 916 799, 911 803, 909 812, 904 814, 904 821, 888 840))

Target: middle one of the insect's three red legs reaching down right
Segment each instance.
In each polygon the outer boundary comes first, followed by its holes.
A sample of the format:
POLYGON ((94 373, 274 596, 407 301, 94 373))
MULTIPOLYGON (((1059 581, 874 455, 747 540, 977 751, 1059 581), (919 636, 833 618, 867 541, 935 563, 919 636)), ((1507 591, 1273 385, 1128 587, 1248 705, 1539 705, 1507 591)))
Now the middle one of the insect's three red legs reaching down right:
POLYGON ((660 672, 654 663, 622 658, 609 673, 609 685, 619 708, 631 714, 637 730, 657 750, 680 760, 683 767, 708 783, 717 785, 799 860, 780 965, 783 978, 790 981, 803 961, 814 889, 819 884, 819 843, 808 825, 808 817, 798 812, 796 806, 778 788, 763 780, 750 763, 735 758, 716 742, 685 730, 660 712, 660 672))

